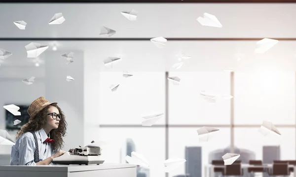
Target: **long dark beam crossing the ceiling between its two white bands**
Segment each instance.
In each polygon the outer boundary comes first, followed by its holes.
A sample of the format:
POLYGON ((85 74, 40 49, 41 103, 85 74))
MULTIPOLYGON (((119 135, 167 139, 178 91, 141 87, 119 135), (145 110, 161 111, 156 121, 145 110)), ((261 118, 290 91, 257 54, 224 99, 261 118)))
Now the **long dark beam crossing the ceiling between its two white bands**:
MULTIPOLYGON (((153 38, 153 37, 151 37, 153 38)), ((87 38, 87 37, 0 37, 0 41, 149 41, 151 38, 87 38)), ((273 38, 280 41, 295 41, 296 38, 273 38)), ((263 38, 166 38, 168 41, 258 41, 263 38)))

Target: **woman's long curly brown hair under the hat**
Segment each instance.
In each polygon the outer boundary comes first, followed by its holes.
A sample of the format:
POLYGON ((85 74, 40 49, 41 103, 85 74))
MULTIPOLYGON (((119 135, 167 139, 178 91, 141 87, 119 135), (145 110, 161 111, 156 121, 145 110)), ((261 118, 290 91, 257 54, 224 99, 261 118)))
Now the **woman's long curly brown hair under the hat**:
POLYGON ((41 110, 34 118, 29 118, 29 122, 24 124, 21 129, 17 132, 16 139, 18 139, 22 134, 26 132, 31 131, 38 131, 46 123, 46 117, 47 117, 47 110, 49 106, 54 106, 59 110, 59 113, 61 115, 59 127, 57 129, 52 129, 49 134, 50 138, 54 139, 54 142, 51 144, 51 147, 54 150, 60 150, 64 148, 64 141, 63 137, 65 137, 66 130, 67 130, 67 122, 66 117, 64 115, 64 112, 61 110, 61 108, 56 104, 50 104, 46 106, 43 110, 41 110))

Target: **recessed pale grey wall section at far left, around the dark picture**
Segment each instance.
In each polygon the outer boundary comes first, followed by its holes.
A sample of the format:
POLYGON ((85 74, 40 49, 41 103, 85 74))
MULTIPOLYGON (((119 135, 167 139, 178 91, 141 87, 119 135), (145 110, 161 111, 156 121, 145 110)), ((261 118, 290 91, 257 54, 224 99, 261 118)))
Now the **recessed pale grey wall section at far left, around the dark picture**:
MULTIPOLYGON (((5 129, 5 109, 7 104, 29 105, 34 99, 45 94, 44 67, 0 67, 0 129, 5 129), (22 83, 27 77, 36 76, 35 83, 22 83)), ((8 131, 15 139, 17 131, 8 131)), ((0 164, 10 162, 11 146, 0 146, 0 164)))

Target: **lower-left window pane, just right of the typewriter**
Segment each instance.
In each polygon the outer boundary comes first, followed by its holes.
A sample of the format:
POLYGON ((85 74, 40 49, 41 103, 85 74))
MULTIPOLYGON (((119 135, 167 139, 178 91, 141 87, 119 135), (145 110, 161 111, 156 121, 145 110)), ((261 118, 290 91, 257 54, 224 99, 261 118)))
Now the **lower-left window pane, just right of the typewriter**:
MULTIPOLYGON (((151 166, 163 165, 165 160, 165 129, 164 128, 100 128, 100 139, 111 144, 103 147, 102 155, 106 163, 125 163, 126 140, 132 151, 142 154, 151 166)), ((164 177, 160 168, 150 168, 150 177, 164 177)))

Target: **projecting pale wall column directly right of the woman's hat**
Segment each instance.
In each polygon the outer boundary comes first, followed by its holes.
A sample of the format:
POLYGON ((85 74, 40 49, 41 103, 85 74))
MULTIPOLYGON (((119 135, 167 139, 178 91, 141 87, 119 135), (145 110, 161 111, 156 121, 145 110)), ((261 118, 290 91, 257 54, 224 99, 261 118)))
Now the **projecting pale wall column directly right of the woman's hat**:
POLYGON ((66 64, 61 55, 70 51, 48 51, 45 56, 45 98, 58 105, 65 113, 68 122, 65 141, 65 150, 83 146, 84 134, 84 100, 83 100, 83 62, 81 51, 74 52, 74 62, 66 64), (66 77, 71 76, 74 81, 67 82, 66 77))

